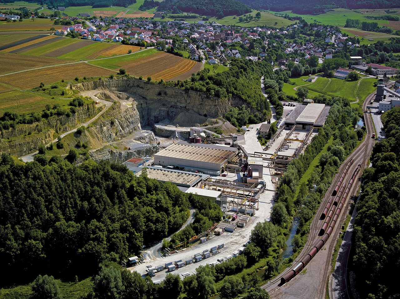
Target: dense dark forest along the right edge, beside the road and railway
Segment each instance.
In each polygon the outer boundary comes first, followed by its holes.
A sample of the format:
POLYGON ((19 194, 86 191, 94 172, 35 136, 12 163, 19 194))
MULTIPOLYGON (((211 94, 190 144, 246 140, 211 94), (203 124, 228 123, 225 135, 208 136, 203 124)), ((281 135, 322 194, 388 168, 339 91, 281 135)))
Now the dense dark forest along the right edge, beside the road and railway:
POLYGON ((354 223, 354 271, 362 298, 399 298, 400 268, 400 108, 382 116, 386 139, 372 151, 354 223))

